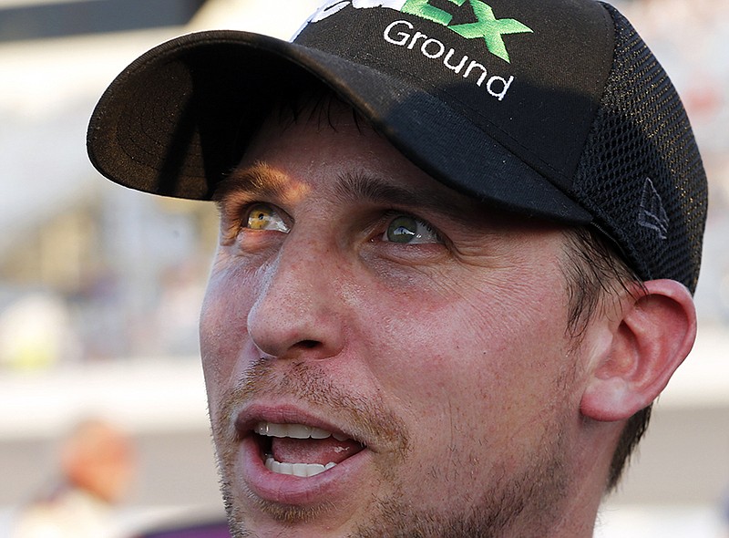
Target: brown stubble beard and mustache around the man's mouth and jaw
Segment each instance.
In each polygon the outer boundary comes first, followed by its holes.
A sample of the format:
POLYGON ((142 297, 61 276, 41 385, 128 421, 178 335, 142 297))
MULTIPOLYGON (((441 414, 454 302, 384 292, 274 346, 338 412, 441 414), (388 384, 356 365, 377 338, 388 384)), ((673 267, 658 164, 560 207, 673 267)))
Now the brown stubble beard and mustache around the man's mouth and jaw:
MULTIPOLYGON (((365 403, 344 395, 317 376, 315 371, 308 367, 302 369, 306 369, 305 377, 303 371, 301 375, 287 375, 284 385, 273 380, 262 361, 256 363, 246 373, 240 390, 235 391, 223 406, 225 410, 221 417, 230 417, 231 409, 257 393, 293 394, 329 409, 350 409, 352 416, 364 425, 363 429, 378 430, 379 434, 385 430, 386 436, 396 440, 394 444, 398 450, 395 457, 388 466, 380 469, 382 491, 389 493, 373 498, 368 510, 364 511, 371 514, 368 520, 359 523, 352 533, 342 538, 504 538, 512 535, 537 538, 559 519, 560 501, 565 498, 570 483, 564 456, 564 427, 559 419, 551 421, 544 429, 542 442, 535 443, 534 453, 523 458, 526 463, 519 471, 492 469, 484 477, 481 491, 467 493, 468 503, 454 506, 444 498, 443 504, 437 508, 422 508, 409 502, 406 488, 396 479, 394 466, 405 462, 409 451, 409 441, 402 424, 372 402, 365 403), (517 532, 517 528, 529 528, 532 533, 517 532)), ((273 520, 291 525, 292 531, 287 534, 290 536, 296 535, 293 530, 296 524, 314 522, 327 515, 331 510, 327 506, 300 509, 273 505, 262 502, 252 492, 248 493, 249 499, 238 499, 231 480, 235 476, 233 459, 237 449, 226 438, 230 433, 226 434, 220 424, 220 420, 214 421, 213 437, 218 450, 221 492, 232 538, 258 537, 246 523, 244 501, 253 503, 258 511, 273 520)), ((458 484, 453 483, 456 480, 443 477, 444 491, 458 491, 458 484)))

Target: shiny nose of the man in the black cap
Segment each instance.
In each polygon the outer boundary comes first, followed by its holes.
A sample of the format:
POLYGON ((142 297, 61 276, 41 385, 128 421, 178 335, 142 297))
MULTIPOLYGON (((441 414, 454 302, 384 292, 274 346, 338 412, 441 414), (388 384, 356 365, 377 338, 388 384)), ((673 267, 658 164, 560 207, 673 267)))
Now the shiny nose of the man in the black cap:
POLYGON ((341 274, 332 248, 287 243, 262 271, 248 333, 264 356, 323 359, 344 347, 341 274))

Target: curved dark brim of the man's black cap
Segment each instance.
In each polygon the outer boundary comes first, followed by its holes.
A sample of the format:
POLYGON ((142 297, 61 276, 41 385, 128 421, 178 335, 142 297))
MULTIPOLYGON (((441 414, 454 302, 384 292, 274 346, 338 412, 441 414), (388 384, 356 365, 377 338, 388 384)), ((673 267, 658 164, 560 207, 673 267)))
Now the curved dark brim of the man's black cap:
POLYGON ((332 88, 448 187, 510 211, 592 221, 566 193, 434 95, 341 57, 247 32, 190 34, 139 57, 99 100, 88 128, 89 157, 108 179, 132 189, 210 199, 270 109, 276 88, 303 73, 332 88))

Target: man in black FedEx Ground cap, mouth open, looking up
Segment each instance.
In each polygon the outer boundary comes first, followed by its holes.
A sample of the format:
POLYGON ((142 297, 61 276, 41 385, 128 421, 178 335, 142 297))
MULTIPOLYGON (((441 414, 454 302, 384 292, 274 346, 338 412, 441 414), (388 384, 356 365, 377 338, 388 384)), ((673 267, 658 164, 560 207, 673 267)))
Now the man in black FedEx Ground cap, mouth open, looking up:
POLYGON ((88 147, 221 209, 200 340, 234 536, 590 536, 693 345, 703 166, 610 5, 184 36, 88 147))

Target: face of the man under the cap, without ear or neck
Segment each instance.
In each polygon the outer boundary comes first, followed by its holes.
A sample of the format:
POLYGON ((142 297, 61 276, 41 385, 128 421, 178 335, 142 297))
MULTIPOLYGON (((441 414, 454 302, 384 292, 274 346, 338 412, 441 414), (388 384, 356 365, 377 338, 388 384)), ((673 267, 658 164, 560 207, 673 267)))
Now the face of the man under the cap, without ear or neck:
POLYGON ((580 421, 562 233, 318 114, 221 193, 200 337, 235 535, 539 535, 580 421))

